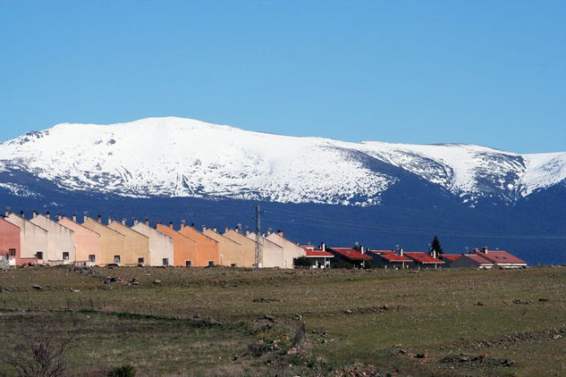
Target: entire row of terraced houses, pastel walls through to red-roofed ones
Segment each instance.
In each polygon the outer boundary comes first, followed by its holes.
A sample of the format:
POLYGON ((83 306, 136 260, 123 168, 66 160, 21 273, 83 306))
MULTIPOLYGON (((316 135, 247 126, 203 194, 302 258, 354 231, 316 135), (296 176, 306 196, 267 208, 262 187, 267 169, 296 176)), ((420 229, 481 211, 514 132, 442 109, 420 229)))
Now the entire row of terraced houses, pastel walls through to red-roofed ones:
POLYGON ((173 222, 134 220, 129 226, 125 220, 115 221, 101 216, 84 216, 82 222, 49 213, 25 214, 6 211, 0 216, 0 257, 10 265, 24 264, 78 264, 123 266, 214 266, 293 268, 302 257, 312 268, 331 265, 357 266, 369 263, 393 269, 407 268, 520 268, 527 264, 502 250, 474 249, 461 255, 435 252, 404 252, 398 250, 369 250, 364 247, 300 246, 286 239, 283 231, 267 232, 259 237, 249 230, 216 228, 197 230, 181 223, 174 229, 173 222), (258 245, 259 244, 259 245, 258 245), (258 261, 256 253, 260 251, 258 261))

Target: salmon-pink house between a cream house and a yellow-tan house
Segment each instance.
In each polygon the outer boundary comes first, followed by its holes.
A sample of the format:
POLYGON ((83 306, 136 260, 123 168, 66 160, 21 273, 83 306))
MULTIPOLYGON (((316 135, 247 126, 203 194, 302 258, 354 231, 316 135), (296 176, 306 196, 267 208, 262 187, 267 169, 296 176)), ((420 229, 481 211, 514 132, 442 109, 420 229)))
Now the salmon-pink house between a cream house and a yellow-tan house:
POLYGON ((76 216, 72 216, 72 219, 60 216, 58 222, 74 231, 75 264, 92 266, 101 263, 100 234, 82 226, 76 216))

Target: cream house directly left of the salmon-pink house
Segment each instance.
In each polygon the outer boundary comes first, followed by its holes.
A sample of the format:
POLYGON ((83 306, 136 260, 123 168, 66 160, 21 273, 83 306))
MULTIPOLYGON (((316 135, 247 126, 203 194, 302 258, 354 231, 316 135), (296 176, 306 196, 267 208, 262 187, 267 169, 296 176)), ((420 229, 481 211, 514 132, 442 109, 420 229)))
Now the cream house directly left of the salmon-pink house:
POLYGON ((30 222, 47 230, 48 264, 72 264, 76 260, 75 232, 51 220, 49 213, 34 212, 30 222))

